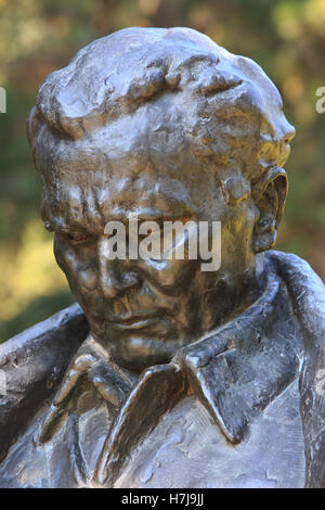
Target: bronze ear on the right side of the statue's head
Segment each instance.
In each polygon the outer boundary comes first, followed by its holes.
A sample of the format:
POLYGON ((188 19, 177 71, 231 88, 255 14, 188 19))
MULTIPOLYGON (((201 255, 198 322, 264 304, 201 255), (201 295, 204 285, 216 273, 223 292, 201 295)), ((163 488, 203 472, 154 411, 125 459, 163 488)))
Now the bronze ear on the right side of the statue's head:
POLYGON ((260 212, 255 225, 252 242, 256 253, 270 250, 276 241, 288 192, 287 174, 277 166, 252 184, 252 199, 260 212))

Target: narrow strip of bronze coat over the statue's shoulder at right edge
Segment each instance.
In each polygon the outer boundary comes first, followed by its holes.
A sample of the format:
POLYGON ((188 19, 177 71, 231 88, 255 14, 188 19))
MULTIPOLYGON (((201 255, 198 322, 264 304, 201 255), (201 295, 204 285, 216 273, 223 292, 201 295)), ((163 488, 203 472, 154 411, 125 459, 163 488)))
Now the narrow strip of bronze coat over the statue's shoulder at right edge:
POLYGON ((306 439, 307 487, 325 486, 325 285, 310 265, 297 255, 269 252, 285 282, 304 343, 299 388, 306 439))

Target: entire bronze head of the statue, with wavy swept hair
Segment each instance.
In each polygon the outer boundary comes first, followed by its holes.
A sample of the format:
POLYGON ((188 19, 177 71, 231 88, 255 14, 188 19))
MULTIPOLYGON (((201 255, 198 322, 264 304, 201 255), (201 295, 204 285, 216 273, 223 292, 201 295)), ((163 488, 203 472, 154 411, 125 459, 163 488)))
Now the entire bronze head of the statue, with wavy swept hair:
MULTIPOLYGON (((95 339, 130 369, 167 362, 261 292, 294 128, 251 60, 188 28, 128 28, 42 84, 28 135, 41 215, 95 339), (110 259, 108 221, 221 221, 221 265, 110 259)), ((127 227, 128 228, 128 227, 127 227)))

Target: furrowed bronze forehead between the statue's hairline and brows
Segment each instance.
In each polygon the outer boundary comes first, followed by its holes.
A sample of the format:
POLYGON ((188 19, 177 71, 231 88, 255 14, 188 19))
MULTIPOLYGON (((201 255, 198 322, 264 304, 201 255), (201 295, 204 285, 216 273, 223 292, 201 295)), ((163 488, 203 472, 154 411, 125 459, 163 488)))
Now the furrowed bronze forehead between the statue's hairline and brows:
POLYGON ((148 133, 130 124, 57 142, 44 178, 46 220, 98 230, 130 213, 188 216, 212 200, 216 173, 187 150, 182 133, 148 133))

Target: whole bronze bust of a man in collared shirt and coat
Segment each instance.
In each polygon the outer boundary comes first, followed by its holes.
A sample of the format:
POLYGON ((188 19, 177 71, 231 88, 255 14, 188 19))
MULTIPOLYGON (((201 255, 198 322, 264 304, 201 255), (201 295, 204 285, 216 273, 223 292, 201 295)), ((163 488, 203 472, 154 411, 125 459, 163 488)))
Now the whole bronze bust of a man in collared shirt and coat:
POLYGON ((264 72, 128 28, 44 80, 27 130, 78 304, 0 346, 0 486, 325 486, 324 285, 272 251, 295 130, 264 72), (131 220, 140 241, 219 222, 220 264, 185 256, 186 230, 183 259, 178 238, 113 255, 131 220))

